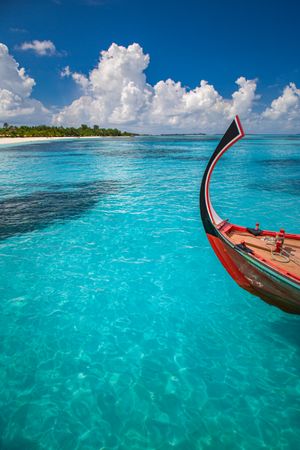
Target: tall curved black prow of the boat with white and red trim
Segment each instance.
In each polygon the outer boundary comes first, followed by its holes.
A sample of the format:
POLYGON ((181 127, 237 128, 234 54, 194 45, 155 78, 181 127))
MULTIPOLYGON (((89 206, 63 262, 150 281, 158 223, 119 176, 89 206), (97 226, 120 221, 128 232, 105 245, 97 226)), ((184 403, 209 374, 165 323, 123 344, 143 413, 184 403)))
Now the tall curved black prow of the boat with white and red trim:
POLYGON ((201 218, 205 228, 206 233, 215 235, 215 226, 219 225, 223 222, 223 220, 218 216, 216 211, 214 210, 210 195, 209 195, 209 184, 212 172, 221 158, 221 156, 239 139, 245 136, 244 130, 242 128, 240 119, 238 116, 235 116, 234 120, 229 125, 227 131, 224 136, 220 140, 217 148, 212 154, 206 170, 203 175, 201 190, 200 190, 200 211, 201 218))

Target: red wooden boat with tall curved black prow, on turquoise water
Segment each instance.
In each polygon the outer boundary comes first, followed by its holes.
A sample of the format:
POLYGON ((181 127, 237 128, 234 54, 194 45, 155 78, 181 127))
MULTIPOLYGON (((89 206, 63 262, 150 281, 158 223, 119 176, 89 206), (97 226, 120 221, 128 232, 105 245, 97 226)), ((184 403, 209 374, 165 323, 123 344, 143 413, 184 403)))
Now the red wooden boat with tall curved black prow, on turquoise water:
POLYGON ((300 314, 300 235, 245 228, 222 220, 209 196, 212 172, 221 156, 244 136, 236 117, 203 175, 201 218, 209 242, 232 278, 244 289, 284 311, 300 314))

